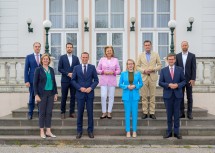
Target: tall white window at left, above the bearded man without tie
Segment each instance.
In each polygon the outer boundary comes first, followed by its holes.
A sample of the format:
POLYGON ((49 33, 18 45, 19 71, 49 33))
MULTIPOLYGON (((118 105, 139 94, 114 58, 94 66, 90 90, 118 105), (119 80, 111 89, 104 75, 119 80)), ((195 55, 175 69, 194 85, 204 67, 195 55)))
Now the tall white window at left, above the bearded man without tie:
POLYGON ((54 59, 54 70, 58 72, 58 62, 61 55, 66 53, 66 43, 73 44, 73 54, 78 54, 79 35, 79 1, 78 0, 49 0, 50 50, 54 59))

